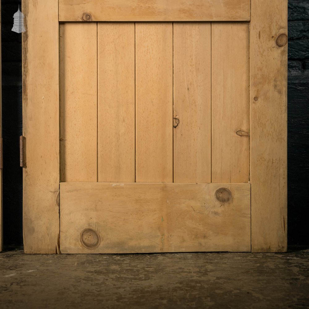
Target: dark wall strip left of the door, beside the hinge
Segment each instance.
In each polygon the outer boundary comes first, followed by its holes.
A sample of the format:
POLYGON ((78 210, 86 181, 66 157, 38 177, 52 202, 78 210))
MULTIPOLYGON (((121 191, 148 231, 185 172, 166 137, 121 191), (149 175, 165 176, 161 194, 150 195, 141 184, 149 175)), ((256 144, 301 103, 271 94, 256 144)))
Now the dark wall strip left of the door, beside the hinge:
POLYGON ((22 134, 21 34, 11 31, 20 1, 1 0, 3 237, 6 248, 21 246, 22 169, 19 136, 22 134))

